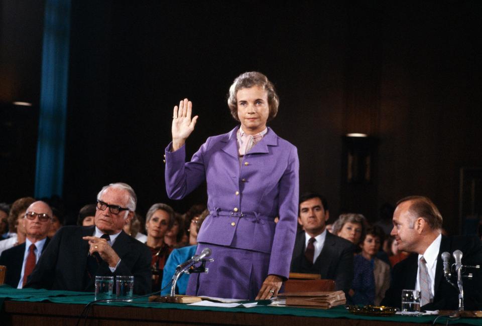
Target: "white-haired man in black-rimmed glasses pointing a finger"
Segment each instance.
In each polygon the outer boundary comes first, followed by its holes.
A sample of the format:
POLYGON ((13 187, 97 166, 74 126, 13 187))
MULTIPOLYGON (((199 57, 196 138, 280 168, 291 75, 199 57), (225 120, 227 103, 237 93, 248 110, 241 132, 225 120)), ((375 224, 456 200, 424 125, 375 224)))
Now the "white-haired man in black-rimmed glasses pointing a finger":
POLYGON ((95 226, 67 226, 52 238, 27 286, 93 291, 96 275, 134 276, 134 292, 151 291, 151 253, 123 227, 132 219, 137 197, 127 184, 102 188, 97 195, 95 226))

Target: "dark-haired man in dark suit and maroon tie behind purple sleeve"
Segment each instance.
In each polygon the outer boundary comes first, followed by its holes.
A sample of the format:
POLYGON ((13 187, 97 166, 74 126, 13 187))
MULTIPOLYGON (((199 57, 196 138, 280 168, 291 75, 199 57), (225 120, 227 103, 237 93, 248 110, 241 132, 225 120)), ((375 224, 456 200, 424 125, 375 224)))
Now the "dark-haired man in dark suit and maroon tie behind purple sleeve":
POLYGON ((307 193, 299 202, 298 223, 303 230, 296 235, 290 271, 333 279, 336 289, 348 294, 353 280, 352 243, 327 232, 329 211, 322 196, 307 193))

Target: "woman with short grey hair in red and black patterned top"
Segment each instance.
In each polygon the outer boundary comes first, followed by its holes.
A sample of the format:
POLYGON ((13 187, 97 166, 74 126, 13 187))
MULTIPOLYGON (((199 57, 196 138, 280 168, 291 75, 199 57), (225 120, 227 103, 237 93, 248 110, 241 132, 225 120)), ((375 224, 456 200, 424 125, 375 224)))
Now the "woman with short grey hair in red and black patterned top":
POLYGON ((152 253, 152 290, 160 290, 162 273, 167 257, 172 251, 164 242, 166 232, 174 224, 174 210, 166 204, 154 204, 151 206, 146 215, 146 245, 151 249, 152 253))

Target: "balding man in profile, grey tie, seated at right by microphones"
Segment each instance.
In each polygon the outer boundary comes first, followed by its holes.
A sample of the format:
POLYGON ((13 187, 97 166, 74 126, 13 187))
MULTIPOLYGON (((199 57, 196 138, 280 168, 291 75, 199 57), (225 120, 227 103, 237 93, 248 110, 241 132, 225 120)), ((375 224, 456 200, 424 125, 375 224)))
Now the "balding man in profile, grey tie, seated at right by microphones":
MULTIPOLYGON (((415 289, 421 291, 422 310, 457 309, 458 289, 443 276, 441 253, 447 251, 452 254, 458 249, 463 253, 463 265, 479 265, 482 262, 480 240, 441 235, 442 216, 432 201, 422 196, 400 200, 393 214, 393 224, 391 235, 395 236, 399 250, 412 254, 394 266, 392 284, 382 304, 400 307, 402 290, 415 289)), ((464 308, 480 310, 482 275, 476 269, 470 272, 473 279, 463 279, 464 308)))

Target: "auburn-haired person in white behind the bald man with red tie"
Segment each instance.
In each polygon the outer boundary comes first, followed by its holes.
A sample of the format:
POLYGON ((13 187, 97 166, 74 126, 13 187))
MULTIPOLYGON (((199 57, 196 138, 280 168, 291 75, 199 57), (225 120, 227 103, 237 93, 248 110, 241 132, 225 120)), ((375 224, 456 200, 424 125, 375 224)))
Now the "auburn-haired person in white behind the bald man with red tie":
POLYGON ((20 222, 23 220, 27 208, 34 202, 35 199, 32 197, 24 197, 17 199, 12 204, 8 221, 10 233, 13 235, 5 240, 0 241, 0 253, 25 242, 24 224, 20 222))

